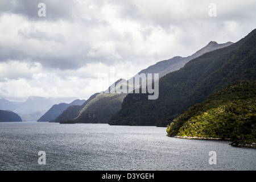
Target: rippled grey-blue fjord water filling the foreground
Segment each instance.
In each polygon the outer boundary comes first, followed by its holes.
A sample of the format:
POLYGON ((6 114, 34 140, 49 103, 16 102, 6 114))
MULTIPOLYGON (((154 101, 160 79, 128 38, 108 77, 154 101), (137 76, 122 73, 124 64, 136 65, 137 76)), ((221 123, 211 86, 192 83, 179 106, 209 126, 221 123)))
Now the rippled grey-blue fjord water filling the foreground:
POLYGON ((171 138, 165 127, 7 122, 0 123, 0 170, 255 170, 256 150, 229 143, 171 138))

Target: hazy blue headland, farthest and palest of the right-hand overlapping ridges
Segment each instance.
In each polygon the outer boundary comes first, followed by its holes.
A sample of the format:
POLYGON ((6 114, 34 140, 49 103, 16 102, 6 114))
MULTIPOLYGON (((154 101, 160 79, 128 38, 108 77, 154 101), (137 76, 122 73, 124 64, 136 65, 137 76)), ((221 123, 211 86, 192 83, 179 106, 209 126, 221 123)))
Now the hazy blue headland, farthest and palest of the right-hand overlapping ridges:
POLYGON ((85 100, 75 100, 69 104, 67 103, 61 103, 61 104, 55 104, 49 109, 42 117, 38 119, 38 122, 49 122, 51 120, 56 119, 65 109, 67 109, 69 106, 72 105, 82 105, 85 102, 85 100))

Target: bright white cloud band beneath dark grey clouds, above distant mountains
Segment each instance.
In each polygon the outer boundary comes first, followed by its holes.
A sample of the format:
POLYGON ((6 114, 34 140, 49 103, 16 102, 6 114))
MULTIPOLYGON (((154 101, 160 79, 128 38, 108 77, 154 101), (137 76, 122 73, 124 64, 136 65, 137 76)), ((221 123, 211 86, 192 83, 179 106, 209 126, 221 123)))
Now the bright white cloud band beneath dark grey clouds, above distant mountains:
POLYGON ((117 64, 88 64, 79 69, 48 69, 40 63, 9 61, 0 63, 0 96, 4 98, 78 97, 88 99, 93 93, 108 89, 114 80, 131 77, 130 70, 142 67, 117 64), (115 78, 110 77, 114 73, 115 78))

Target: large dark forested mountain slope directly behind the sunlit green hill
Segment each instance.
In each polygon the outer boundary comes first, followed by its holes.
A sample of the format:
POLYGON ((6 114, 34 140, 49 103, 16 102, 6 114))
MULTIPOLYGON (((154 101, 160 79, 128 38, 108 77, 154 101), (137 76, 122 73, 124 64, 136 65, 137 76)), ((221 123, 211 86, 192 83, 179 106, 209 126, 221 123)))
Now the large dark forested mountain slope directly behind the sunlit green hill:
POLYGON ((189 107, 237 80, 256 80, 256 30, 228 47, 204 53, 159 79, 159 97, 129 93, 110 125, 167 126, 189 107))

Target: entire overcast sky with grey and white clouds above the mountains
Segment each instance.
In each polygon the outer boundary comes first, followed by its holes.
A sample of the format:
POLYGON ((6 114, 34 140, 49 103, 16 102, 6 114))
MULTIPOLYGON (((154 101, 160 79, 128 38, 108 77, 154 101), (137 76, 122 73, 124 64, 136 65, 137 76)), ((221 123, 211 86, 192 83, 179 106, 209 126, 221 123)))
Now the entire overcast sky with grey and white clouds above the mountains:
POLYGON ((0 98, 88 99, 113 72, 128 79, 210 41, 237 42, 256 28, 255 10, 255 0, 1 0, 0 98))

